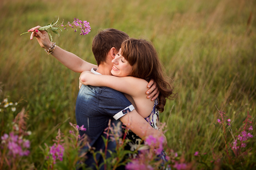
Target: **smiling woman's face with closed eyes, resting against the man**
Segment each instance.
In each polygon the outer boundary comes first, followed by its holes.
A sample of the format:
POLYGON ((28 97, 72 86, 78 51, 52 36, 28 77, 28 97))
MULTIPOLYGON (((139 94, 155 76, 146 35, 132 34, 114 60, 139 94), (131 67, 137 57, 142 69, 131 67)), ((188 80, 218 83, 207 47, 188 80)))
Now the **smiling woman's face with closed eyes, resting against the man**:
POLYGON ((111 70, 112 75, 117 77, 126 77, 130 75, 132 66, 121 55, 121 49, 119 49, 119 52, 115 55, 115 59, 112 60, 112 63, 114 64, 111 70))

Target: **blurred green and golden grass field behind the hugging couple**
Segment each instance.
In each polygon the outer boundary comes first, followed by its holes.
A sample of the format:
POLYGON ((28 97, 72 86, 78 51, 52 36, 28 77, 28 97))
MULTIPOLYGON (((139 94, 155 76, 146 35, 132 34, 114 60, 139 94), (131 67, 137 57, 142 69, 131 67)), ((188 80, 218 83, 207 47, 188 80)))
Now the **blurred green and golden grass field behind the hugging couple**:
MULTIPOLYGON (((186 162, 195 160, 196 151, 210 154, 213 150, 225 162, 225 143, 213 124, 220 118, 218 110, 231 119, 233 132, 241 128, 247 111, 252 118, 256 116, 255 9, 253 0, 3 0, 0 101, 7 96, 9 101, 23 100, 10 112, 13 114, 0 112, 1 136, 9 132, 8 122, 25 107, 28 130, 32 131, 28 161, 42 169, 40 147, 52 143, 58 128, 68 132, 68 122, 76 122, 80 74, 48 56, 35 39, 30 41, 29 34, 20 36, 58 16, 64 23, 75 17, 90 22, 91 32, 81 36, 63 31, 59 38, 53 36, 53 42, 94 64, 92 38, 102 28, 113 27, 130 37, 152 41, 179 93, 160 114, 160 121, 167 123, 168 147, 184 154, 186 162)), ((256 128, 255 121, 252 127, 256 128)), ((232 143, 231 135, 227 136, 232 143)), ((255 154, 255 137, 251 140, 250 153, 255 154)), ((229 168, 242 169, 243 165, 229 168)), ((202 167, 205 169, 203 164, 196 168, 202 167)))

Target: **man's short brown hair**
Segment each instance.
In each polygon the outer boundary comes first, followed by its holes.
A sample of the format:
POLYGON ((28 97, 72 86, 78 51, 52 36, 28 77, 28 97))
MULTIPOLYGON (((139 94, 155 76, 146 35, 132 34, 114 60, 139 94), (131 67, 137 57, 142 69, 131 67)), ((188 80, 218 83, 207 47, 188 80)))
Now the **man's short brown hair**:
POLYGON ((119 50, 122 42, 129 38, 128 34, 115 28, 99 31, 92 40, 92 52, 97 65, 106 62, 106 56, 112 47, 119 50))

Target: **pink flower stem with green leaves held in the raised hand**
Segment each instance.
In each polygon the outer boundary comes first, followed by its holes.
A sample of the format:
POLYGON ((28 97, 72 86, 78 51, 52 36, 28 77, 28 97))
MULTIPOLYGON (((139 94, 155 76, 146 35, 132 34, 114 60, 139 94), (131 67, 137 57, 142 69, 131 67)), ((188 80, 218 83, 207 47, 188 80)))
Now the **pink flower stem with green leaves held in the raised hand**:
MULTIPOLYGON (((51 41, 52 41, 52 35, 50 34, 49 30, 51 30, 55 34, 58 34, 58 36, 59 36, 59 33, 57 31, 60 30, 62 32, 61 27, 64 27, 64 30, 66 30, 66 28, 67 30, 68 28, 73 28, 75 32, 77 32, 77 30, 79 29, 81 31, 80 35, 88 34, 91 31, 90 23, 87 21, 81 21, 81 20, 78 20, 77 18, 74 18, 74 21, 71 24, 70 22, 68 22, 66 25, 63 25, 64 23, 64 20, 63 20, 61 24, 57 25, 58 20, 54 24, 53 24, 53 21, 54 21, 53 20, 51 24, 48 24, 44 27, 40 27, 38 30, 40 31, 45 30, 50 35, 51 41)), ((29 32, 24 32, 21 35, 27 34, 27 33, 29 32)))

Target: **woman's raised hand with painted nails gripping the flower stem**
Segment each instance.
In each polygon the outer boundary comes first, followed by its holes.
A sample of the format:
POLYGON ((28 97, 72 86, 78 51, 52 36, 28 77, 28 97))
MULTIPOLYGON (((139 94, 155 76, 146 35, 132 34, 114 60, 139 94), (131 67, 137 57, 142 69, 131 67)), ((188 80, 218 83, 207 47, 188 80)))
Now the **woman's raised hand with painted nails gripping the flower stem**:
POLYGON ((36 37, 38 43, 40 46, 44 49, 49 49, 52 46, 52 43, 49 39, 48 33, 46 31, 40 31, 38 30, 40 26, 36 26, 28 30, 28 32, 32 32, 30 35, 30 40, 33 39, 33 37, 36 37))

